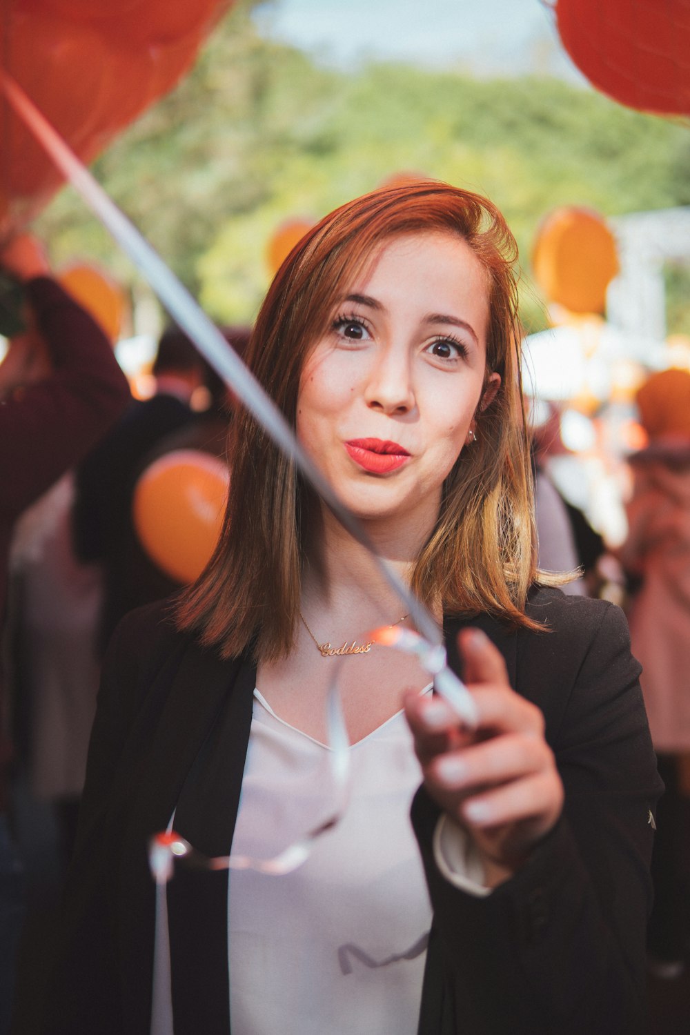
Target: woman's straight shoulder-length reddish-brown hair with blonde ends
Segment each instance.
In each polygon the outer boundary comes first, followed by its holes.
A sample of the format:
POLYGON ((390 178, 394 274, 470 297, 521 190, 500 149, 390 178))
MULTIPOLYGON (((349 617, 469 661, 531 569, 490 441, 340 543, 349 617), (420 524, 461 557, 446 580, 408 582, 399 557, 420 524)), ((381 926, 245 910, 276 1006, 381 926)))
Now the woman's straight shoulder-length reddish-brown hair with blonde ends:
MULTIPOLYGON (((491 202, 433 180, 374 190, 331 212, 293 248, 262 305, 246 361, 295 425, 306 356, 353 279, 389 238, 461 237, 484 267, 489 323, 486 377, 501 387, 476 413, 477 441, 444 484, 431 536, 412 574, 426 604, 447 614, 488 612, 532 626, 524 605, 537 576, 532 472, 519 376, 515 240, 491 202)), ((181 597, 181 629, 224 657, 249 646, 277 659, 293 645, 303 534, 313 494, 254 418, 242 410, 229 438, 232 485, 222 533, 181 597)))

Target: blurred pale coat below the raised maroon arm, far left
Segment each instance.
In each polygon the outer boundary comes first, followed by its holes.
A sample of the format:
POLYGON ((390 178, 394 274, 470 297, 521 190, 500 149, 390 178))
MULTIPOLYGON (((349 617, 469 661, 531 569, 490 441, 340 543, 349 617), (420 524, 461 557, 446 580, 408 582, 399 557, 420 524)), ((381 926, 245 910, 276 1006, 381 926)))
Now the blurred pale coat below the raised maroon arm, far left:
POLYGON ((49 803, 71 854, 100 674, 102 576, 72 537, 74 473, 19 518, 9 556, 7 653, 14 743, 32 798, 49 803))

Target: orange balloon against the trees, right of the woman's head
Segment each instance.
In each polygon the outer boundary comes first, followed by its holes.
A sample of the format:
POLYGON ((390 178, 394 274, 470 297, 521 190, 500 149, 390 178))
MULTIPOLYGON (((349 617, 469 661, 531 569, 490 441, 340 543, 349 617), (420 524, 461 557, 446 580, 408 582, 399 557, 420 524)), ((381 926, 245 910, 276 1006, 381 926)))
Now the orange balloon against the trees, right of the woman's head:
POLYGON ((537 232, 532 266, 549 301, 571 313, 603 313, 606 288, 619 271, 616 240, 597 212, 557 208, 537 232))

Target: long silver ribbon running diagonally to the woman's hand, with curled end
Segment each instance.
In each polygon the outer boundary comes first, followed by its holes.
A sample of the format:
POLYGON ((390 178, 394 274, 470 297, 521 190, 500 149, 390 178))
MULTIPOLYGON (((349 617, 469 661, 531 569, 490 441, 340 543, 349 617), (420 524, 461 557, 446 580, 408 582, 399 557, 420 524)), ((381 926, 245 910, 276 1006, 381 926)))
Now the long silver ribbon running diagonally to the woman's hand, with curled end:
MULTIPOLYGON (((321 471, 300 446, 292 427, 273 401, 220 334, 213 323, 199 307, 184 286, 177 279, 148 241, 140 234, 123 212, 114 204, 102 187, 91 176, 65 141, 48 122, 24 90, 0 70, 0 85, 17 114, 41 144, 65 178, 81 195, 86 205, 110 231, 134 266, 151 285, 158 298, 177 324, 194 342, 208 362, 217 371, 226 384, 233 389, 244 406, 252 413, 264 431, 279 449, 288 455, 306 480, 319 493, 341 525, 365 545, 386 583, 397 593, 421 635, 409 629, 399 630, 401 638, 392 644, 415 654, 427 672, 433 675, 438 692, 453 708, 458 717, 469 726, 476 724, 474 701, 464 684, 448 668, 443 638, 433 618, 414 596, 396 571, 380 557, 368 542, 359 523, 340 502, 321 471)), ((153 975, 153 1002, 170 1000, 169 974, 166 971, 167 930, 163 922, 166 885, 174 874, 175 860, 205 869, 245 869, 252 867, 264 874, 286 874, 301 865, 308 858, 313 842, 339 821, 347 803, 350 766, 349 741, 337 693, 337 668, 334 671, 328 694, 328 740, 332 755, 332 773, 339 800, 332 816, 299 840, 290 845, 273 859, 253 859, 241 855, 207 858, 197 852, 184 838, 175 834, 172 824, 164 834, 155 835, 149 847, 149 862, 156 883, 156 923, 153 975), (166 974, 163 974, 166 971, 166 974)))

